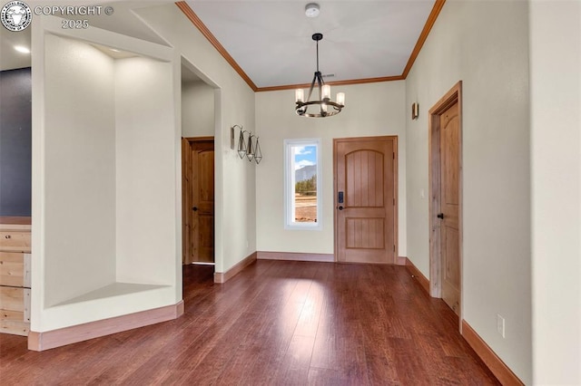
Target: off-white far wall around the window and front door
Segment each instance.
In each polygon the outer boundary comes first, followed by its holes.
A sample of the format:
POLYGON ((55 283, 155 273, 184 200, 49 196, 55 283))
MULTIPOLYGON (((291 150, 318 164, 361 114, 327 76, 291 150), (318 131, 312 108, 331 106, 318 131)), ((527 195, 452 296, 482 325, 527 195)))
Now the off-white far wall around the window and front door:
POLYGON ((333 139, 397 135, 399 154, 399 256, 406 256, 406 122, 405 83, 379 82, 333 86, 346 92, 346 107, 326 119, 299 117, 294 111, 294 91, 256 94, 256 131, 263 159, 256 175, 258 250, 332 254, 333 139), (322 161, 322 230, 284 229, 283 140, 320 138, 322 161))

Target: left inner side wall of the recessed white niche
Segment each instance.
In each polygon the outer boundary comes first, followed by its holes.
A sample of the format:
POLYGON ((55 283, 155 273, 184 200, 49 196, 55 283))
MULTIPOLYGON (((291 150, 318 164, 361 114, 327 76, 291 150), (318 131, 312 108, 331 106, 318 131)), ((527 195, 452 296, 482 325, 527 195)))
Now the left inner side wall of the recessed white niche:
POLYGON ((45 306, 115 280, 113 60, 47 34, 45 306))

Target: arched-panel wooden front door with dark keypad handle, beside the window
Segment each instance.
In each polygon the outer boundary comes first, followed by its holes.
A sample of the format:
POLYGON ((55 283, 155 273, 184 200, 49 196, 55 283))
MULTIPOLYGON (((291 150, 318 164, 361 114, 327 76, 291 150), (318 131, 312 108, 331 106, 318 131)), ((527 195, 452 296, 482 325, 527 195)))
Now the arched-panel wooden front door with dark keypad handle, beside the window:
POLYGON ((337 261, 396 264, 397 137, 333 142, 337 261))

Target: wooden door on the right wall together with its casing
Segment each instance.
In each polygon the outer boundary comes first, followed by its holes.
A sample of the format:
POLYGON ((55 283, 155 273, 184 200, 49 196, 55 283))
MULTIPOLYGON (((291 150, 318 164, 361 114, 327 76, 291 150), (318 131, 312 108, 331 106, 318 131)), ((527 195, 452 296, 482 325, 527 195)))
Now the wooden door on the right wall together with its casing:
POLYGON ((461 83, 430 114, 430 290, 460 315, 461 83))

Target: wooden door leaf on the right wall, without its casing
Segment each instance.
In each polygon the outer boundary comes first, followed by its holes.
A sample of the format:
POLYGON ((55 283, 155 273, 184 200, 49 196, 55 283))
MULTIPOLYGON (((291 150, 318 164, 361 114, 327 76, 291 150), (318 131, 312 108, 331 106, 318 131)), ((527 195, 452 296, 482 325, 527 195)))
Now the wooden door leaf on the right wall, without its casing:
POLYGON ((440 148, 440 269, 442 299, 459 313, 460 243, 459 243, 459 119, 458 101, 439 116, 440 148))

